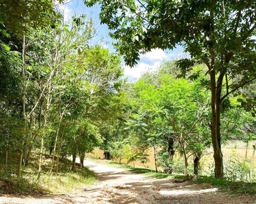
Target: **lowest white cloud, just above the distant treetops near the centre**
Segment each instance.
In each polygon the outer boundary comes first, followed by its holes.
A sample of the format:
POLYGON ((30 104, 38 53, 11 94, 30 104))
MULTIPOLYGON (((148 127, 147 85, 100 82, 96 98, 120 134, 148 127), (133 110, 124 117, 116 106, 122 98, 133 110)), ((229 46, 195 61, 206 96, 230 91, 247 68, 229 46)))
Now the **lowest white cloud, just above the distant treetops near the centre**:
POLYGON ((145 71, 155 71, 160 65, 159 61, 154 62, 153 65, 147 65, 146 63, 139 63, 135 67, 125 66, 124 75, 132 80, 137 80, 145 71))

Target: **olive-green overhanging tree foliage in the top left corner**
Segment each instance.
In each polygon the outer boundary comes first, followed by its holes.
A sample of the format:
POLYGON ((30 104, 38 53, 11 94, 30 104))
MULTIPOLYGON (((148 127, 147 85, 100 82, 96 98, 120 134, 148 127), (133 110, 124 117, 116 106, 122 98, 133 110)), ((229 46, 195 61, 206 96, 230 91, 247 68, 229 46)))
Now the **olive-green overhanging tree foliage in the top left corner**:
POLYGON ((18 36, 31 28, 51 24, 51 17, 57 15, 53 0, 1 0, 0 3, 0 30, 4 28, 18 36))

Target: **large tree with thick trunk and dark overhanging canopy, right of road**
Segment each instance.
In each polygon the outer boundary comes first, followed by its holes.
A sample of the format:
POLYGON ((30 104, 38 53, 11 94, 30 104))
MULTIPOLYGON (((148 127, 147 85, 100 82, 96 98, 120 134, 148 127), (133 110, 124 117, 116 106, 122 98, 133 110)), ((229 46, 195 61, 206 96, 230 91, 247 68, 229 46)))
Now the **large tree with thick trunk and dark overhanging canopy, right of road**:
POLYGON ((100 1, 100 19, 113 30, 115 46, 133 66, 154 48, 184 47, 182 74, 204 64, 210 76, 211 139, 215 177, 223 177, 221 107, 236 90, 256 79, 255 1, 100 1), (129 46, 127 46, 127 44, 129 46))

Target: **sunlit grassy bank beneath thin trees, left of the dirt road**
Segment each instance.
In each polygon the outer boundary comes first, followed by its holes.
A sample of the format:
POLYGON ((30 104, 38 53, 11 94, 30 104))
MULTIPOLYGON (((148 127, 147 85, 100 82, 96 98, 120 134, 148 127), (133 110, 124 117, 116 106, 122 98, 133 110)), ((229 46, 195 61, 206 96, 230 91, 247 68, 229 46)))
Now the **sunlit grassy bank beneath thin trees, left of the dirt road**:
MULTIPOLYGON (((61 194, 75 192, 79 188, 94 184, 96 173, 87 168, 76 167, 71 172, 71 161, 63 158, 59 161, 59 173, 49 173, 51 156, 44 155, 42 173, 37 180, 38 155, 33 154, 28 166, 23 168, 23 176, 16 177, 16 159, 10 160, 5 171, 0 171, 0 193, 3 194, 61 194)), ((0 164, 0 169, 3 167, 0 164)))

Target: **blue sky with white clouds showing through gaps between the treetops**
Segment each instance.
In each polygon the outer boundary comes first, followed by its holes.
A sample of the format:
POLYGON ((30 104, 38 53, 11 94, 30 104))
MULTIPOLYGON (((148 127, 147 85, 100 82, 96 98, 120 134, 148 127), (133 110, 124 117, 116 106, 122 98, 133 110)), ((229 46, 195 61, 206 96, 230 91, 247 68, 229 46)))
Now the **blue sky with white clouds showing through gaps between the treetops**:
MULTIPOLYGON (((98 30, 98 35, 91 41, 91 45, 100 44, 104 48, 108 48, 111 52, 115 52, 113 48, 113 39, 109 37, 109 29, 105 24, 100 24, 99 14, 100 5, 93 7, 85 7, 83 0, 66 0, 68 3, 59 5, 59 10, 63 13, 64 21, 68 21, 74 14, 79 16, 86 14, 88 18, 94 20, 94 24, 98 30)), ((140 61, 135 67, 124 65, 124 75, 129 81, 136 81, 145 71, 154 71, 163 60, 171 60, 181 58, 184 55, 182 47, 177 47, 173 50, 154 49, 140 56, 140 61)))

